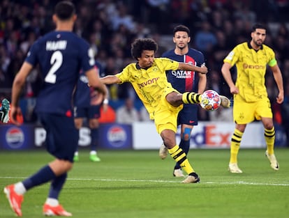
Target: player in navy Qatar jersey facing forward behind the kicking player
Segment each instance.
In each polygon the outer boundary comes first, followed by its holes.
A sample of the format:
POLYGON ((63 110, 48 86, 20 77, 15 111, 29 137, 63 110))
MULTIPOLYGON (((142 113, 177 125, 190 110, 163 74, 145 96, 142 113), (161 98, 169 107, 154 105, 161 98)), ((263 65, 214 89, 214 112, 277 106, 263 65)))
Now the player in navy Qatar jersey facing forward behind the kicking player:
MULTIPOLYGON (((188 47, 191 41, 190 30, 184 25, 175 26, 173 30, 173 42, 175 48, 165 52, 162 56, 174 61, 191 63, 192 65, 205 65, 205 58, 202 52, 188 47)), ((186 70, 168 70, 166 72, 168 81, 172 87, 180 93, 195 92, 203 93, 207 84, 207 75, 195 71, 186 70)), ((178 125, 181 125, 181 141, 179 148, 188 154, 190 148, 191 132, 194 125, 198 125, 198 105, 184 104, 177 117, 178 125)), ((165 159, 168 155, 168 149, 162 144, 159 150, 161 159, 165 159)), ((173 176, 182 177, 184 173, 181 171, 181 166, 175 164, 173 176)))

